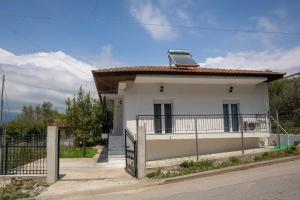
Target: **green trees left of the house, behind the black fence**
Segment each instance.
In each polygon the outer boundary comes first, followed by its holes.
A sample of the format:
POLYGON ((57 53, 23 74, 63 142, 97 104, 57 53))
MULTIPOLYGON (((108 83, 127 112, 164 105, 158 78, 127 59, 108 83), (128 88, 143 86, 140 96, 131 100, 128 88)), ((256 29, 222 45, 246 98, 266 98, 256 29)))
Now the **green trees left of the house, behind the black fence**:
MULTIPOLYGON (((75 138, 77 146, 94 146, 102 141, 101 133, 112 128, 113 115, 104 98, 101 102, 82 87, 66 100, 65 113, 59 113, 51 102, 26 105, 21 114, 6 124, 8 135, 45 133, 47 125, 57 125, 66 138, 75 138)), ((85 153, 85 151, 83 152, 85 153)))

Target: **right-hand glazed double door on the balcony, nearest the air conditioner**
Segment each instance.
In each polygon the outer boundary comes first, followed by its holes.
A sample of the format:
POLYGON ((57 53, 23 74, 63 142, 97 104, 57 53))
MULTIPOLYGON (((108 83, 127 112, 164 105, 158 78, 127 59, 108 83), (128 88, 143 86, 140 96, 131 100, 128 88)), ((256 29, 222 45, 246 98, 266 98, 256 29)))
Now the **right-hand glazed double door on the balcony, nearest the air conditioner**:
POLYGON ((237 103, 223 104, 224 132, 239 131, 239 111, 237 103))

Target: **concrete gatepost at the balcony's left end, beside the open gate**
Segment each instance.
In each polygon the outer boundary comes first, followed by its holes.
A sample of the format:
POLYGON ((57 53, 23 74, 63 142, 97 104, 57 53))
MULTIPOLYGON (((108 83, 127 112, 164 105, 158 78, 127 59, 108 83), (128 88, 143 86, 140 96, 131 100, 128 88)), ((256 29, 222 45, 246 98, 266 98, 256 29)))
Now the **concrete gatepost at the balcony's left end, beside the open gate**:
POLYGON ((137 177, 143 178, 145 176, 145 127, 139 126, 137 132, 137 177))

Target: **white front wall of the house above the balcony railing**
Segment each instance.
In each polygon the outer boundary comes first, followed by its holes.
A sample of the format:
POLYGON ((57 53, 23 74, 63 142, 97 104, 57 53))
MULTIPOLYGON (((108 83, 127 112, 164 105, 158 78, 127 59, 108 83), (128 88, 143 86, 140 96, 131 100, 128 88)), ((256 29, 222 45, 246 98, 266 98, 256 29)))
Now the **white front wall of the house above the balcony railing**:
POLYGON ((128 82, 123 99, 123 127, 136 134, 136 116, 153 115, 155 101, 172 102, 173 115, 222 114, 224 101, 237 101, 240 113, 265 114, 269 110, 267 84, 204 85, 128 82), (160 92, 160 86, 164 91, 160 92), (229 93, 229 86, 234 90, 229 93))

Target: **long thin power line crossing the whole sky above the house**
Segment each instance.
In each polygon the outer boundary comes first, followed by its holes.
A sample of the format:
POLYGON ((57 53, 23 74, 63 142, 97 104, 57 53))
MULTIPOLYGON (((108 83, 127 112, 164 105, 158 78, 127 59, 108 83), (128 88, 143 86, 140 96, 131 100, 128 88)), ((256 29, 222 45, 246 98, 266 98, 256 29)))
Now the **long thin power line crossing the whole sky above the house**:
MULTIPOLYGON (((0 12, 0 16, 15 17, 21 19, 31 19, 31 20, 47 20, 47 21, 62 20, 62 18, 54 18, 49 16, 16 15, 16 14, 3 13, 3 12, 0 12)), ((64 20, 74 21, 74 18, 69 18, 69 19, 65 18, 64 20)), ((134 25, 138 24, 144 26, 171 27, 171 28, 180 28, 180 29, 199 29, 203 31, 261 33, 261 34, 290 35, 290 36, 300 35, 300 32, 287 32, 287 31, 261 31, 261 30, 253 30, 253 29, 241 29, 241 28, 204 27, 199 25, 171 25, 171 24, 143 23, 143 22, 134 22, 134 21, 123 21, 123 20, 90 19, 90 18, 86 18, 85 20, 90 20, 97 23, 134 24, 134 25)))

